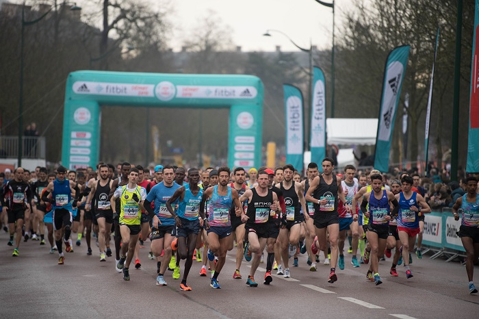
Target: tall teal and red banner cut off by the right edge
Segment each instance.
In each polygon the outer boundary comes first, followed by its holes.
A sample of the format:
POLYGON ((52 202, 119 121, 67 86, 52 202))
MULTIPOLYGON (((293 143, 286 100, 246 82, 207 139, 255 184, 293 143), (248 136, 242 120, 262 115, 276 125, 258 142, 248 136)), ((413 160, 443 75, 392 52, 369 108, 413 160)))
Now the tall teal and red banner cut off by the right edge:
POLYGON ((479 0, 476 0, 474 38, 472 41, 471 99, 469 103, 469 139, 467 144, 467 173, 479 172, 479 0))

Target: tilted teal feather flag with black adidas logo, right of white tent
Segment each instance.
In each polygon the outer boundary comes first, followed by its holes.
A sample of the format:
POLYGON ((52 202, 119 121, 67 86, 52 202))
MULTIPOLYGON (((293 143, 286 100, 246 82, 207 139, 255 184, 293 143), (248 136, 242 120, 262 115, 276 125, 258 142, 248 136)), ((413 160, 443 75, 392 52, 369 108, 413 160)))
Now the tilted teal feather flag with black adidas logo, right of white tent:
POLYGON ((389 170, 389 150, 391 149, 394 120, 396 120, 396 110, 409 58, 409 49, 409 45, 393 49, 389 52, 386 61, 383 93, 379 107, 376 150, 374 151, 374 168, 381 172, 389 170))

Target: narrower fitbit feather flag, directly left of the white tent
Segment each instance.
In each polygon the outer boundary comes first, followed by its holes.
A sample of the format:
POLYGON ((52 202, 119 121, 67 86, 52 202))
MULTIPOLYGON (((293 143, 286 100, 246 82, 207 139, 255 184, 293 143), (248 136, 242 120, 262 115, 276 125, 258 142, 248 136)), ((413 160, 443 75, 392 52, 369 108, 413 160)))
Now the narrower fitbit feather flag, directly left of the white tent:
MULTIPOLYGON (((326 81, 318 66, 313 67, 311 103, 311 162, 320 163, 326 157, 326 81)), ((322 171, 320 164, 318 168, 322 171)))

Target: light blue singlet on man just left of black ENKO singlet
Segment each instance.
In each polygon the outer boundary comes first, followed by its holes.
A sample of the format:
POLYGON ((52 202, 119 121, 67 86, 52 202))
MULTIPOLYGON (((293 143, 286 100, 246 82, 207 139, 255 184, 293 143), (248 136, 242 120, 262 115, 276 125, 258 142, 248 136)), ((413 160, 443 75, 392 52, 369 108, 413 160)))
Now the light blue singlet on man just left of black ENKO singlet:
POLYGON ((228 186, 226 196, 218 194, 218 185, 213 188, 213 194, 209 199, 208 205, 208 222, 212 227, 231 226, 229 210, 233 200, 231 199, 231 187, 228 186))

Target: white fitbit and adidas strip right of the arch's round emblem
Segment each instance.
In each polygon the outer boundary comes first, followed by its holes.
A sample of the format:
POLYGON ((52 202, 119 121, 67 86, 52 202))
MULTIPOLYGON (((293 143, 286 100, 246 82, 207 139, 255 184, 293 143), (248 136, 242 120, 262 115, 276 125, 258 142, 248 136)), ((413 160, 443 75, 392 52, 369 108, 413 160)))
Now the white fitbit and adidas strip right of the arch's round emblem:
POLYGON ((254 86, 176 86, 177 99, 255 99, 254 86))

